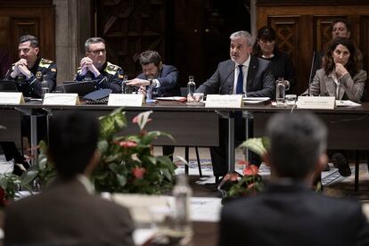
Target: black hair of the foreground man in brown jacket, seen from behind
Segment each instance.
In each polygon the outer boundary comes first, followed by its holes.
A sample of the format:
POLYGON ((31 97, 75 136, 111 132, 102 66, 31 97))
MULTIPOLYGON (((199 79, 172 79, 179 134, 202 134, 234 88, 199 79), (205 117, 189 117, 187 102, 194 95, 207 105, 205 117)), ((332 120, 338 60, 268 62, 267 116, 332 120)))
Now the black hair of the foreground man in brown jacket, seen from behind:
POLYGON ((48 154, 59 176, 83 174, 96 150, 99 122, 84 111, 53 114, 49 128, 48 154))

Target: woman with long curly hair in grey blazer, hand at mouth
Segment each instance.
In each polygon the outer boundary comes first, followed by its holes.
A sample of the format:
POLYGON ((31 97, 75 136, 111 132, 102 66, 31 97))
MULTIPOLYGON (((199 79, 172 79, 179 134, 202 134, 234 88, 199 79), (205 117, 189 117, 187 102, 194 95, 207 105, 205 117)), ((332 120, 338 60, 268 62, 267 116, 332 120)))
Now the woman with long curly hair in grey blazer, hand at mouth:
POLYGON ((366 72, 357 48, 346 37, 337 37, 324 55, 323 68, 316 71, 310 95, 335 96, 338 100, 359 102, 366 72))

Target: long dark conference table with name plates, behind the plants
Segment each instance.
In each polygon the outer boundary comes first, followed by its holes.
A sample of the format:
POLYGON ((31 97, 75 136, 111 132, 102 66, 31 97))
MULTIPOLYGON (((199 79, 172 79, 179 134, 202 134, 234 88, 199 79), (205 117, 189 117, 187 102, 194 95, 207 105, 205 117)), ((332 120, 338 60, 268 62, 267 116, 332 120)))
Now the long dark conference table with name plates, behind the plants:
MULTIPOLYGON (((0 141, 9 140, 20 135, 20 115, 31 117, 31 147, 37 146, 37 120, 35 112, 43 110, 49 116, 57 111, 87 111, 96 117, 106 115, 113 109, 107 105, 82 104, 78 106, 42 105, 40 102, 27 102, 20 105, 4 105, 0 108, 2 118, 0 125, 7 125, 7 130, 0 132, 0 141), (4 134, 4 133, 6 134, 4 134)), ((124 107, 127 119, 133 119, 142 111, 153 111, 152 121, 147 130, 160 130, 173 135, 176 142, 168 138, 157 139, 155 145, 174 146, 217 146, 218 119, 228 119, 228 170, 234 171, 234 112, 242 111, 244 118, 253 119, 253 136, 266 135, 266 122, 275 113, 293 113, 296 111, 313 111, 324 120, 328 127, 328 148, 335 150, 366 151, 369 149, 369 102, 358 107, 339 107, 334 110, 299 110, 288 106, 277 108, 270 102, 263 104, 245 104, 240 108, 207 108, 203 105, 188 105, 185 102, 158 101, 147 103, 142 107, 124 107)), ((137 133, 138 127, 133 124, 124 129, 122 134, 137 133)), ((0 130, 1 131, 1 130, 0 130)), ((246 133, 248 131, 246 130, 246 133)), ((247 137, 247 136, 246 136, 247 137)), ((34 148, 32 148, 34 149, 34 148)), ((37 154, 37 152, 35 152, 37 154)), ((357 160, 358 161, 358 160, 357 160)), ((358 165, 358 164, 357 164, 358 165)), ((358 170, 356 170, 357 172, 358 170)), ((358 174, 356 173, 358 176, 358 174)), ((357 187, 357 184, 356 184, 357 187)))

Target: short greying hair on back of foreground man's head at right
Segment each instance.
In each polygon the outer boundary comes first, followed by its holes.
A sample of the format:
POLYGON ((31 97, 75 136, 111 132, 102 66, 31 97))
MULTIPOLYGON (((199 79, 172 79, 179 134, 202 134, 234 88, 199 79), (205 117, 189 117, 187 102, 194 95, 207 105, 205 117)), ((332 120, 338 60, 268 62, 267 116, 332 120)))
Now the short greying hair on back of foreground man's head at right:
POLYGON ((304 179, 325 152, 327 129, 309 112, 276 114, 267 124, 269 157, 277 176, 304 179))

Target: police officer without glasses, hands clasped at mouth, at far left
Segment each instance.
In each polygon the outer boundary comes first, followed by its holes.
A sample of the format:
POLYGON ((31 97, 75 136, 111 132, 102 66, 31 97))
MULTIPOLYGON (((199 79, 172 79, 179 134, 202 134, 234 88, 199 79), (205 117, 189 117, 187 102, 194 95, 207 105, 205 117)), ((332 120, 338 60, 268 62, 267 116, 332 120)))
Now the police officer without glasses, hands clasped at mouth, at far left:
POLYGON ((20 61, 12 64, 5 78, 15 80, 24 96, 41 98, 41 82, 46 75, 49 90, 53 91, 56 86, 56 63, 38 57, 37 38, 31 35, 20 37, 18 52, 20 61))

